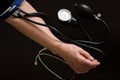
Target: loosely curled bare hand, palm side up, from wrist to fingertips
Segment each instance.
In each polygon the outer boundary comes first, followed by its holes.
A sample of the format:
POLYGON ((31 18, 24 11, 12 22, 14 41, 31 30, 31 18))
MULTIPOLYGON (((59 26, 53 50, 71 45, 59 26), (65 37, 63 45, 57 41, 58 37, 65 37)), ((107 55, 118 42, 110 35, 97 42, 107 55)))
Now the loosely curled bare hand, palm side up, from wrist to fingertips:
POLYGON ((86 73, 100 65, 87 51, 74 44, 61 43, 53 53, 62 57, 76 73, 86 73))

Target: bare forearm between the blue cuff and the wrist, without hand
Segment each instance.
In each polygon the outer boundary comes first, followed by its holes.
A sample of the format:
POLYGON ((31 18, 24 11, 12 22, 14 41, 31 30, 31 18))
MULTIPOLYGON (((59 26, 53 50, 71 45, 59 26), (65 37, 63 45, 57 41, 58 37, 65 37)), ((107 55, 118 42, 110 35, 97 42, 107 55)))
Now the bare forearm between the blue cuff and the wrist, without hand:
MULTIPOLYGON (((20 9, 28 13, 36 12, 36 10, 26 1, 22 3, 20 9)), ((39 17, 31 17, 30 19, 44 23, 44 21, 39 17)), ((7 23, 11 24, 17 30, 22 32, 24 35, 28 36, 32 40, 36 41, 40 45, 51 49, 60 42, 47 27, 33 24, 24 19, 9 17, 6 20, 7 23)))

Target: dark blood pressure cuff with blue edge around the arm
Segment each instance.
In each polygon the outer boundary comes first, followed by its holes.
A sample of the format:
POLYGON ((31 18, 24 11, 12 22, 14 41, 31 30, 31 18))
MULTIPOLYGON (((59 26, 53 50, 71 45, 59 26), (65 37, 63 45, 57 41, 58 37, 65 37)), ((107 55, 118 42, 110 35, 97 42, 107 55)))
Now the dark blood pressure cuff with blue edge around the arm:
POLYGON ((10 17, 24 0, 0 0, 0 20, 10 17))

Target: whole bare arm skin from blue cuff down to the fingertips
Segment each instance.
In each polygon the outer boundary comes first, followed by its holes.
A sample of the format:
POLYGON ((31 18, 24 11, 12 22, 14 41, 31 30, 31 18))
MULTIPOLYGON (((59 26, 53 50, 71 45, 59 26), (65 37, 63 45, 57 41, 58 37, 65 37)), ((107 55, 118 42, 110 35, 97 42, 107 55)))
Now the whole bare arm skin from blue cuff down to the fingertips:
MULTIPOLYGON (((27 1, 23 1, 19 8, 27 13, 37 12, 27 1)), ((42 18, 28 18, 45 24, 42 18)), ((25 36, 52 51, 53 54, 62 57, 76 73, 86 73, 100 65, 100 62, 81 47, 60 41, 47 27, 12 16, 5 21, 25 36)))

